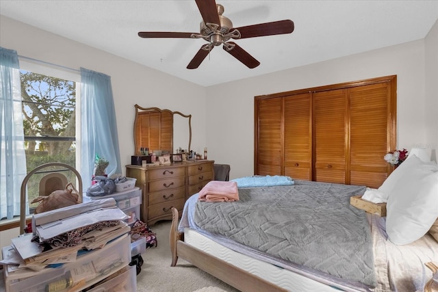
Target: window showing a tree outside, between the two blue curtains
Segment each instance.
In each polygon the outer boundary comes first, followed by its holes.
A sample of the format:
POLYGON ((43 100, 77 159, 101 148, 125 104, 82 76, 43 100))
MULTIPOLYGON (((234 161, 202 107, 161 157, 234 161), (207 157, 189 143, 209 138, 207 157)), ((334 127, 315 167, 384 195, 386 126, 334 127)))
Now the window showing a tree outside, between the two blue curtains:
MULTIPOLYGON (((27 173, 49 162, 79 168, 79 72, 67 72, 21 59, 20 69, 27 173)), ((30 202, 38 196, 39 182, 47 170, 32 175, 27 183, 31 213, 38 203, 30 202)), ((77 185, 73 172, 60 171, 68 182, 77 185)))

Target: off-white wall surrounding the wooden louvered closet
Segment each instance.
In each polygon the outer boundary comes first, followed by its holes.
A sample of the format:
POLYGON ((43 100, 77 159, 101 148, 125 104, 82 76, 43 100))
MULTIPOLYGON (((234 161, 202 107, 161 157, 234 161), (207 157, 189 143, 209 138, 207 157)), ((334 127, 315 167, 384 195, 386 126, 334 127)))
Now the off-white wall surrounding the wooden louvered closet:
POLYGON ((230 164, 230 178, 254 174, 254 96, 387 75, 397 75, 397 148, 437 148, 436 31, 427 38, 427 97, 425 40, 207 88, 209 157, 230 164))

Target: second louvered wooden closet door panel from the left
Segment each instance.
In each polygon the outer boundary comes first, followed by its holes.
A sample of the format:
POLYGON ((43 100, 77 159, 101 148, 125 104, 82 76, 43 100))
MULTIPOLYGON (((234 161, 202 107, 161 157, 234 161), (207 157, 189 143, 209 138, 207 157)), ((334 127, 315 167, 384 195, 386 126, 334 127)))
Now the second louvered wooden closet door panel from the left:
POLYGON ((284 98, 284 174, 311 181, 311 94, 284 98))

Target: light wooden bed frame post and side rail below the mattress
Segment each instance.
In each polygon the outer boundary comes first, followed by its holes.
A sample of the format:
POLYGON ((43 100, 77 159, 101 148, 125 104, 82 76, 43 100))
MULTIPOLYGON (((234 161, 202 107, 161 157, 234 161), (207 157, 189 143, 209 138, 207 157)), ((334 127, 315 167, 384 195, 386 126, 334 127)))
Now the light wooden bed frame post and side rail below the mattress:
POLYGON ((172 267, 177 265, 178 258, 192 263, 199 269, 206 271, 211 276, 230 284, 240 291, 248 292, 274 292, 287 291, 262 278, 244 271, 234 265, 211 256, 198 248, 184 242, 184 233, 178 231, 178 210, 172 207, 172 225, 170 226, 170 250, 172 251, 172 267))

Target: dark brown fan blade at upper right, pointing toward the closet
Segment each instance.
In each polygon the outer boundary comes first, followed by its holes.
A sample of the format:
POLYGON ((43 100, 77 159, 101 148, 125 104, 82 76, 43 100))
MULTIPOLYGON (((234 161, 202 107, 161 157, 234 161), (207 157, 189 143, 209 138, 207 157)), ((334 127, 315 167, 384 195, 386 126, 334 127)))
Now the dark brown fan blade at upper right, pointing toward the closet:
POLYGON ((259 23, 246 27, 235 27, 240 32, 240 38, 255 38, 257 36, 273 36, 275 34, 290 34, 294 31, 294 22, 290 20, 259 23))

